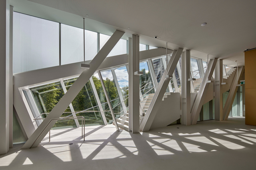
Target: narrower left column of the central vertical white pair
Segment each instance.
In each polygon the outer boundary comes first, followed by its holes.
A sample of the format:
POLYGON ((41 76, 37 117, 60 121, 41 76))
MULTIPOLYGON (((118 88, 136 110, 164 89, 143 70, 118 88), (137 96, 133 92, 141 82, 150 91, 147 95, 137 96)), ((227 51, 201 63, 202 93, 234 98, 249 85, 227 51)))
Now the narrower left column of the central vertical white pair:
POLYGON ((128 39, 128 86, 129 86, 129 128, 128 131, 132 131, 132 38, 128 39))

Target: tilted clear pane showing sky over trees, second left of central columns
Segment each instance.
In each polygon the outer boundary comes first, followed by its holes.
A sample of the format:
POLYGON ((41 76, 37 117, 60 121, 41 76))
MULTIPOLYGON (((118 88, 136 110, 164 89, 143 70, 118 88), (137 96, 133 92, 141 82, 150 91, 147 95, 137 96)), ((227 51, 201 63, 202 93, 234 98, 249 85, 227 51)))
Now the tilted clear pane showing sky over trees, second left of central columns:
POLYGON ((120 112, 123 112, 123 107, 117 89, 116 89, 116 83, 114 81, 113 75, 111 70, 107 70, 107 71, 102 71, 102 78, 104 80, 104 84, 106 86, 106 90, 108 92, 108 96, 110 98, 110 102, 112 104, 113 107, 113 111, 115 113, 116 118, 120 117, 120 112))

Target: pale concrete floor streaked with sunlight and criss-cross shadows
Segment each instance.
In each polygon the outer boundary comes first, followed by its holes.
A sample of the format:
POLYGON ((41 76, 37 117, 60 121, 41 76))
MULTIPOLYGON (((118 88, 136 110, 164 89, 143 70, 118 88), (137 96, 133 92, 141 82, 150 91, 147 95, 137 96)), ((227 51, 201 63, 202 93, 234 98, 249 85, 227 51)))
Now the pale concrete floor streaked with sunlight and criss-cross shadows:
POLYGON ((244 117, 172 125, 147 133, 114 125, 51 131, 41 145, 15 145, 1 155, 0 170, 255 170, 256 127, 244 117), (73 143, 73 145, 69 145, 73 143))

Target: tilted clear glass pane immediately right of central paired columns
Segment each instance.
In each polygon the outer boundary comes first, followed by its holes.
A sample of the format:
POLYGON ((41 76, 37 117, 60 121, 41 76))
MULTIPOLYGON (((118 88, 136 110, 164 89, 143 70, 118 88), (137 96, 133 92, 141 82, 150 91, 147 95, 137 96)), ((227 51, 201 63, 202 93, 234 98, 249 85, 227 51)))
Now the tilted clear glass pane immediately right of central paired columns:
POLYGON ((155 93, 154 84, 148 69, 148 62, 140 63, 140 71, 143 72, 143 74, 140 75, 140 91, 142 96, 144 95, 143 98, 145 98, 149 94, 155 93))

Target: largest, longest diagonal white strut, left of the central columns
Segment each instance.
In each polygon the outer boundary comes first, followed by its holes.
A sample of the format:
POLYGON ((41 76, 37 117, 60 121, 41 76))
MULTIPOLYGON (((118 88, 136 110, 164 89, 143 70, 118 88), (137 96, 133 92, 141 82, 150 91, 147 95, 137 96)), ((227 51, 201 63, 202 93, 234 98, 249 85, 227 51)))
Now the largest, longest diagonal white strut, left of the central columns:
POLYGON ((53 127, 56 121, 52 119, 58 119, 62 113, 66 110, 69 104, 74 100, 80 90, 83 88, 84 84, 88 82, 90 77, 98 69, 100 64, 104 61, 110 51, 114 48, 116 43, 124 35, 124 32, 116 30, 98 54, 92 59, 90 63, 90 68, 84 70, 82 74, 77 78, 74 84, 69 88, 69 90, 64 94, 56 106, 52 109, 50 114, 44 119, 41 125, 34 131, 28 141, 23 145, 22 149, 37 147, 49 130, 53 127))

